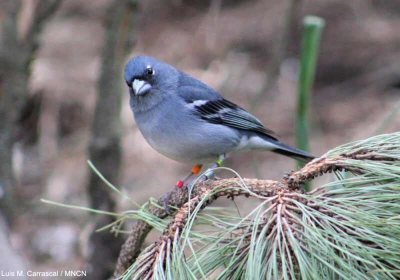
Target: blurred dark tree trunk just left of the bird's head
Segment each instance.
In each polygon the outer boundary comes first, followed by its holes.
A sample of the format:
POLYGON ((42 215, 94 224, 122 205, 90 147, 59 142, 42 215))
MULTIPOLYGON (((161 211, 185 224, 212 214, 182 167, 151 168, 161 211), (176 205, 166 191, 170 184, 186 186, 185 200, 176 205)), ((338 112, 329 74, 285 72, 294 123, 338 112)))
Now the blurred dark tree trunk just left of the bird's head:
MULTIPOLYGON (((133 0, 115 0, 106 13, 101 72, 89 144, 90 160, 113 184, 118 183, 121 165, 121 73, 125 57, 133 44, 131 31, 135 9, 133 0)), ((88 194, 92 208, 114 211, 111 189, 93 172, 90 173, 88 194)), ((109 216, 96 216, 95 227, 112 221, 113 218, 109 216)), ((92 273, 88 279, 109 278, 123 243, 122 236, 115 237, 107 231, 93 232, 90 243, 93 248, 89 258, 92 273)))

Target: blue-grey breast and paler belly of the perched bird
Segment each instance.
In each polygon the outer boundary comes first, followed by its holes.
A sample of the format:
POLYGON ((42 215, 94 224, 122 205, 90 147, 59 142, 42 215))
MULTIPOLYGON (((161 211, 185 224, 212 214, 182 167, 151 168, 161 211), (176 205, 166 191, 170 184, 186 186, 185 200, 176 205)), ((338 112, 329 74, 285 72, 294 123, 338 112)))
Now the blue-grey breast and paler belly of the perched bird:
POLYGON ((134 113, 134 117, 150 146, 176 161, 212 162, 238 144, 234 130, 203 121, 176 106, 170 110, 134 113))

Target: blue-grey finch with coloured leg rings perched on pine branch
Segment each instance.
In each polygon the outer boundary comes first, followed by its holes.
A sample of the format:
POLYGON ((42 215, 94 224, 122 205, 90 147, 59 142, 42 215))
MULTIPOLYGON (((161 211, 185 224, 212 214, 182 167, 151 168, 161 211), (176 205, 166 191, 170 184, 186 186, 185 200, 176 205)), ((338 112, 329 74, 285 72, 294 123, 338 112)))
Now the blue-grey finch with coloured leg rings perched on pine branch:
POLYGON ((170 159, 194 163, 175 186, 206 172, 239 151, 269 150, 308 162, 311 153, 284 144, 277 134, 204 82, 150 56, 131 58, 124 68, 129 105, 145 140, 170 159))

